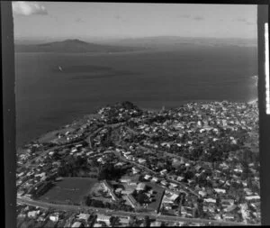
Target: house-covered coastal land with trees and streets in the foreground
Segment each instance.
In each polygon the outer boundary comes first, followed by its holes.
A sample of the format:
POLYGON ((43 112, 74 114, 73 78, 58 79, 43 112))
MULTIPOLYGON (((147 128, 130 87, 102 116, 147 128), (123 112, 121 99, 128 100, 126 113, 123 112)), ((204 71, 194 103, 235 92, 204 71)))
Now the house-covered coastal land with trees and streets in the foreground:
POLYGON ((257 102, 130 102, 17 153, 18 227, 260 224, 257 102))

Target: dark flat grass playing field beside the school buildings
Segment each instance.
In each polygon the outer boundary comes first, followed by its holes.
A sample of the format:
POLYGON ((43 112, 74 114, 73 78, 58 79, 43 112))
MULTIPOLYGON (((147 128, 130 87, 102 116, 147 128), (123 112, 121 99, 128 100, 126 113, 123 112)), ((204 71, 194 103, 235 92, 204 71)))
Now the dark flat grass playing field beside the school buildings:
POLYGON ((56 204, 80 204, 97 182, 93 178, 63 178, 47 193, 40 196, 40 200, 56 204))

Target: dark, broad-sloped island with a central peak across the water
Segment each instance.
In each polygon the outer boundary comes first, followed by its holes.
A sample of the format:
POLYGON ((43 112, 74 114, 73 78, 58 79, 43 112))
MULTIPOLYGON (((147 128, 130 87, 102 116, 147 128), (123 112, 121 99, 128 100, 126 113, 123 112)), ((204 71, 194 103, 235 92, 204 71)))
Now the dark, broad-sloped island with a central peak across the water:
POLYGON ((15 44, 15 52, 121 52, 143 50, 138 47, 122 47, 115 45, 95 44, 80 40, 54 41, 42 44, 15 44))

